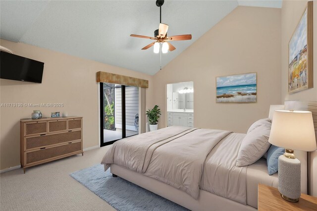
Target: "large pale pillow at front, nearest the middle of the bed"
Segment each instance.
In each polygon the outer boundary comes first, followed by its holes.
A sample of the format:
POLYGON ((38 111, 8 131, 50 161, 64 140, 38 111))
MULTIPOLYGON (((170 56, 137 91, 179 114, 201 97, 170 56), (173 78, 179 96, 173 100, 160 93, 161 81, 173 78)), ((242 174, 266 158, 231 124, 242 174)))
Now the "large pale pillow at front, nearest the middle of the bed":
POLYGON ((251 165, 266 153, 271 145, 268 142, 270 131, 271 123, 265 121, 244 137, 237 156, 237 167, 251 165))

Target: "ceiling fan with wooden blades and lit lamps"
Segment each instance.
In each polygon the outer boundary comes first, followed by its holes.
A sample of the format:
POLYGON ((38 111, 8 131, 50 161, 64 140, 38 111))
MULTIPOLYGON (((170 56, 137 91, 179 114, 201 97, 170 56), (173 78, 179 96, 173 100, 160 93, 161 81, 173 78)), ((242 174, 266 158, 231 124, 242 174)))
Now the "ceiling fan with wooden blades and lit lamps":
POLYGON ((161 6, 163 5, 164 0, 157 0, 156 4, 159 6, 159 29, 154 31, 154 37, 148 37, 143 35, 130 35, 131 37, 138 37, 138 38, 146 38, 155 40, 155 42, 147 45, 142 50, 147 50, 154 46, 154 53, 159 53, 160 45, 161 45, 161 52, 167 53, 169 51, 174 51, 176 48, 170 44, 168 41, 180 41, 180 40, 191 40, 192 35, 176 35, 167 37, 167 30, 168 25, 161 23, 161 6))

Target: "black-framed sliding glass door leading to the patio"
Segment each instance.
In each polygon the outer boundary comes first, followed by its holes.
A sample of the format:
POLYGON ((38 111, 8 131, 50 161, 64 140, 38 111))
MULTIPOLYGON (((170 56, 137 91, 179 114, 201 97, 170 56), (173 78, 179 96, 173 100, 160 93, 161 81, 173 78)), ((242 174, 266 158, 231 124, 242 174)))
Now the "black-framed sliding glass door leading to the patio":
POLYGON ((101 146, 139 134, 139 88, 100 83, 101 146))

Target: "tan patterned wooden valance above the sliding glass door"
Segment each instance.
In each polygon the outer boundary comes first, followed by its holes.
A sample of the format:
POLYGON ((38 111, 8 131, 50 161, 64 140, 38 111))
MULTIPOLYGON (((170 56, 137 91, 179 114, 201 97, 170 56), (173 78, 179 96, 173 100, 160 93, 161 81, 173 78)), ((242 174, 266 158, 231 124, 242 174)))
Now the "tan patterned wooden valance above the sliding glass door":
POLYGON ((97 72, 97 82, 149 88, 149 81, 108 72, 97 72))

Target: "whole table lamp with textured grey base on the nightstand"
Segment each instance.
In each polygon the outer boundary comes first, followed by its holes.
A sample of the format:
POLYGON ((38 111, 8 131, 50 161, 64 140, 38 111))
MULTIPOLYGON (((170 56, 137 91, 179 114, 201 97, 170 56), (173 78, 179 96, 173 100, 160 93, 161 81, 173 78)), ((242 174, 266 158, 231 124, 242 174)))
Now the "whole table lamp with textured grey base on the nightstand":
POLYGON ((290 202, 301 197, 301 162, 294 150, 317 149, 313 115, 310 111, 275 110, 268 142, 285 148, 278 158, 278 191, 290 202))

